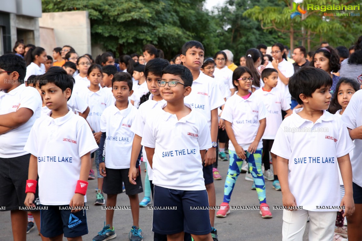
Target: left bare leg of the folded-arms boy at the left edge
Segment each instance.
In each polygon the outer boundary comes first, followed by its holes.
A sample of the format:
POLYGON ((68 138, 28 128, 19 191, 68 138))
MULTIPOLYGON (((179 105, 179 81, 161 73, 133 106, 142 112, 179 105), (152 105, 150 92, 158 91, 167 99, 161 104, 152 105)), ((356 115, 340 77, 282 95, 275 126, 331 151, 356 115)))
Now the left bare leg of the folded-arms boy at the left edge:
POLYGON ((22 210, 11 210, 11 227, 14 241, 26 240, 26 228, 28 227, 28 213, 22 210))

